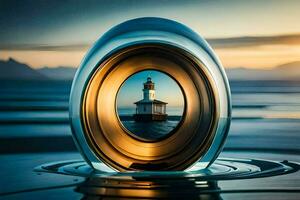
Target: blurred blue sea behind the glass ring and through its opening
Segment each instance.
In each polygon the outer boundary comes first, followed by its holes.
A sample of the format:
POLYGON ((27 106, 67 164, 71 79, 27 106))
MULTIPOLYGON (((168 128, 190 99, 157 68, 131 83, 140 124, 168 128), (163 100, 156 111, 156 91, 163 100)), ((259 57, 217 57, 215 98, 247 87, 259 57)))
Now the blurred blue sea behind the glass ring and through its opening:
MULTIPOLYGON (((300 153, 300 81, 231 81, 233 113, 225 149, 300 153)), ((2 81, 0 153, 75 150, 68 114, 70 81, 2 81), (49 142, 53 141, 53 143, 49 142), (54 145, 55 144, 55 145, 54 145)), ((176 115, 170 109, 169 115, 176 115)), ((132 113, 122 110, 120 114, 132 113)), ((132 132, 132 121, 124 122, 132 132)), ((178 121, 153 125, 141 137, 161 137, 178 121)))

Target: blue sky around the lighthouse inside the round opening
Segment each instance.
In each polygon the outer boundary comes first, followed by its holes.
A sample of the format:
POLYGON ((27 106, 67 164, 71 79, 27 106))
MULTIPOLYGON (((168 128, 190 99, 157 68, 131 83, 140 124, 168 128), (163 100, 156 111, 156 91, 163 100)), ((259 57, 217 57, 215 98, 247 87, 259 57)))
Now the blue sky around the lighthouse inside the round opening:
POLYGON ((167 108, 182 107, 183 109, 183 94, 178 84, 167 74, 155 70, 145 70, 129 77, 119 90, 117 107, 135 107, 134 102, 143 99, 143 83, 148 77, 151 77, 155 84, 155 99, 167 102, 167 108))

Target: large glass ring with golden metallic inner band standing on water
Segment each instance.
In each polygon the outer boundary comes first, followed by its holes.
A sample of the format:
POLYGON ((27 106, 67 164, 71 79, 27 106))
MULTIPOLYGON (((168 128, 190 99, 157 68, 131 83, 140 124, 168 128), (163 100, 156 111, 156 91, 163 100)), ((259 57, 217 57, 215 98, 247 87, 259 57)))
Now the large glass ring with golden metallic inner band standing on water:
MULTIPOLYGON (((135 123, 170 120, 163 103, 151 96, 154 87, 149 83, 144 89, 135 123)), ((129 93, 128 99, 133 102, 129 93)), ((197 33, 168 19, 138 18, 110 29, 88 51, 72 84, 73 138, 95 169, 104 163, 117 171, 185 170, 196 162, 205 168, 221 152, 230 119, 229 84, 217 56, 197 33), (136 137, 118 114, 122 85, 147 70, 171 77, 184 99, 180 123, 172 134, 154 139, 136 137)), ((150 125, 140 127, 138 132, 146 133, 150 125)))

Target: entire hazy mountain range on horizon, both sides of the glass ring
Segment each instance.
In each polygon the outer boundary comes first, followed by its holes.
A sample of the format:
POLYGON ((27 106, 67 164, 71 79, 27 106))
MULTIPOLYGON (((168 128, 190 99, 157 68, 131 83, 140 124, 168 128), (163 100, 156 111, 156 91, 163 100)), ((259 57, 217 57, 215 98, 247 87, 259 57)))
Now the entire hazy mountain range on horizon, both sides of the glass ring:
MULTIPOLYGON (((0 60, 0 80, 72 80, 74 67, 43 67, 32 69, 12 58, 0 60)), ((272 69, 227 68, 230 80, 299 80, 300 61, 286 63, 272 69)))

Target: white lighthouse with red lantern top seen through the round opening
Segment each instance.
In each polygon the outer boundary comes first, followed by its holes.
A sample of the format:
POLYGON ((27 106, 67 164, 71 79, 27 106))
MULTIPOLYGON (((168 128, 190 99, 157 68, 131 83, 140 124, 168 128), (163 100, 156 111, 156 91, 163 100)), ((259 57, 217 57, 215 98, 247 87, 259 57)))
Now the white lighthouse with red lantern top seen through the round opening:
POLYGON ((155 99, 155 84, 151 77, 147 78, 143 88, 143 99, 136 105, 135 121, 165 121, 167 120, 166 105, 168 103, 155 99))

